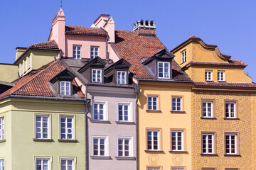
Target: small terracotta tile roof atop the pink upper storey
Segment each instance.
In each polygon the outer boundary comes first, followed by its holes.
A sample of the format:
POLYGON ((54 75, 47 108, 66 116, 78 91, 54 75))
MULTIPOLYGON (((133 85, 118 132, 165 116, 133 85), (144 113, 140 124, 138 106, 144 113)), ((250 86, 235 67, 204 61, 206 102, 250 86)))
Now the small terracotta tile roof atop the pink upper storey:
POLYGON ((97 27, 65 26, 66 34, 107 36, 107 31, 97 27))

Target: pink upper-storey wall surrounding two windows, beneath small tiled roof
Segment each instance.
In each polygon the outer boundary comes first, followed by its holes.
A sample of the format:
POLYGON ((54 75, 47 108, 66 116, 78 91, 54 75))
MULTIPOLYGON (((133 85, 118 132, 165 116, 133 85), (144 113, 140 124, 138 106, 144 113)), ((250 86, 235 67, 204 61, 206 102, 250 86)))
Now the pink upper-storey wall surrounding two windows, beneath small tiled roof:
POLYGON ((81 45, 81 58, 90 58, 90 47, 99 48, 99 57, 106 59, 106 37, 91 35, 65 35, 65 57, 73 57, 73 45, 81 45))

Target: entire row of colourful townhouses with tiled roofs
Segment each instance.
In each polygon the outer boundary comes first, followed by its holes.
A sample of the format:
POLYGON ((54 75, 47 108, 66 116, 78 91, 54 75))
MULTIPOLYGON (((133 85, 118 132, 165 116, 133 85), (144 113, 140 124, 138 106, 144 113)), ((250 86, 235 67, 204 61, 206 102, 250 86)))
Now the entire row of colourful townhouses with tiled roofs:
POLYGON ((195 36, 170 51, 154 21, 52 23, 0 64, 0 170, 256 169, 247 64, 195 36))

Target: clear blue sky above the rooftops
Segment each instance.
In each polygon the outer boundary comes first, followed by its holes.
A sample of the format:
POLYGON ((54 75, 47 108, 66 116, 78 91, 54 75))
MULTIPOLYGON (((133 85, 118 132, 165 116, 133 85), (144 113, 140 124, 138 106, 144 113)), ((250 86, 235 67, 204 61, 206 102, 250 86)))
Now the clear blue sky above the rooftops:
MULTIPOLYGON (((48 39, 60 0, 0 1, 0 62, 12 63, 16 47, 48 39)), ((220 52, 242 60, 256 81, 255 0, 63 0, 66 25, 91 26, 101 13, 110 14, 118 30, 132 30, 135 21, 156 21, 156 35, 173 49, 191 35, 220 52)))

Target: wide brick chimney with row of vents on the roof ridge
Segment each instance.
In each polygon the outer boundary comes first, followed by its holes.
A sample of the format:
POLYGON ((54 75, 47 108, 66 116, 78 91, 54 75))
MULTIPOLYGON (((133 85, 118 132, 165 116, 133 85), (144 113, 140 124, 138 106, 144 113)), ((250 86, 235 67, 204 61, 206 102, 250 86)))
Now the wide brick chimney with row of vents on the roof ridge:
POLYGON ((137 21, 133 25, 133 30, 137 30, 139 33, 142 34, 155 34, 156 23, 153 20, 137 21))

